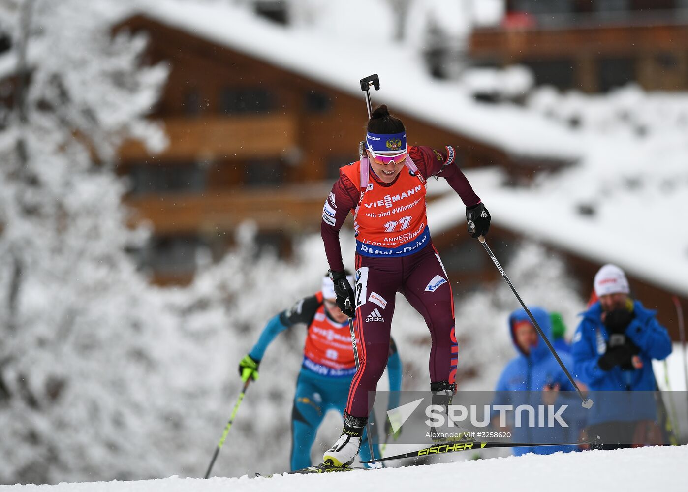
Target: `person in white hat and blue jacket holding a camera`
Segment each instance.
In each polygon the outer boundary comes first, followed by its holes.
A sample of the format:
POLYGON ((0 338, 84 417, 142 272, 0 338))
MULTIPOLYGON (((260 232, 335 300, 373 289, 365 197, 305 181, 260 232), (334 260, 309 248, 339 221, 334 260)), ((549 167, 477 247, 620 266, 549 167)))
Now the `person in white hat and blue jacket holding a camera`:
POLYGON ((590 409, 588 434, 601 436, 594 447, 603 449, 650 443, 638 442, 638 436, 647 436, 647 429, 658 435, 654 395, 627 391, 657 389, 652 359, 671 354, 671 339, 656 312, 630 298, 628 280, 618 266, 600 268, 594 291, 599 300, 583 313, 572 341, 574 372, 593 391, 626 392, 599 395, 590 409))

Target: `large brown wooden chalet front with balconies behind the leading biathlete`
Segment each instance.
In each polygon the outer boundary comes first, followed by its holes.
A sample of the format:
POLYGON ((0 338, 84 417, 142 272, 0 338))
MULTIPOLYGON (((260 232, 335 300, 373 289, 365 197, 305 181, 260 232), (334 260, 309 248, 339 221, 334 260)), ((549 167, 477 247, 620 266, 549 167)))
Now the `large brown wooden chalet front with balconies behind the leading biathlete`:
MULTIPOLYGON (((188 281, 195 249, 208 246, 219 257, 245 220, 257 223, 261 244, 282 251, 290 236, 319 231, 338 168, 358 159, 367 121, 363 94, 145 14, 118 29, 146 32, 148 63, 171 67, 151 115, 164 124, 169 147, 150 156, 132 142, 120 152, 120 173, 133 184, 127 202, 155 231, 143 261, 156 281, 188 281)), ((528 175, 553 163, 510 156, 391 109, 405 122, 409 144, 456 145, 462 167, 497 164, 528 175)))

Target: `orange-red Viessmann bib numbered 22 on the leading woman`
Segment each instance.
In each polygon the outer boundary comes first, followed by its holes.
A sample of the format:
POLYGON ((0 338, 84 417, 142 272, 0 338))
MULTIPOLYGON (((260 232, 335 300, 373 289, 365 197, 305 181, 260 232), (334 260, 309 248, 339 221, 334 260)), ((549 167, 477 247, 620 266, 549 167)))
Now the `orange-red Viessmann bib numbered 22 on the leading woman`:
MULTIPOLYGON (((365 161, 364 158, 363 162, 352 165, 358 169, 350 171, 350 178, 358 180, 356 171, 367 167, 365 161)), ((381 186, 374 180, 366 184, 365 177, 361 177, 361 199, 354 215, 356 253, 367 257, 399 257, 417 253, 430 244, 425 180, 410 158, 391 186, 381 186)))

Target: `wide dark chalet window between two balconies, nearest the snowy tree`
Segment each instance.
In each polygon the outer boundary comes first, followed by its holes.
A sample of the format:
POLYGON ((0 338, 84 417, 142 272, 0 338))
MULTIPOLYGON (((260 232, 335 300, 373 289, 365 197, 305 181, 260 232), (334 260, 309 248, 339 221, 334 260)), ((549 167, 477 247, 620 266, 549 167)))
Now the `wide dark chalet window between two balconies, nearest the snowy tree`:
POLYGON ((207 172, 201 164, 132 164, 131 193, 199 193, 206 189, 207 172))

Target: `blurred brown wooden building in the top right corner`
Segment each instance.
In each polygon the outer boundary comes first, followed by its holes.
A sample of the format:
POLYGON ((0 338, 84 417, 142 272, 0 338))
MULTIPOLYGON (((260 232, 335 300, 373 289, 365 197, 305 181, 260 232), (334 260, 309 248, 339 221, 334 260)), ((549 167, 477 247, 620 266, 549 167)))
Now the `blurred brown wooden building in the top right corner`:
POLYGON ((474 30, 477 65, 526 65, 538 85, 607 92, 688 88, 688 1, 508 0, 502 24, 474 30))

